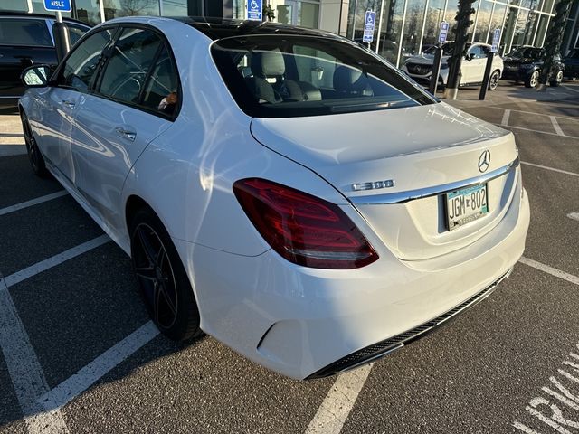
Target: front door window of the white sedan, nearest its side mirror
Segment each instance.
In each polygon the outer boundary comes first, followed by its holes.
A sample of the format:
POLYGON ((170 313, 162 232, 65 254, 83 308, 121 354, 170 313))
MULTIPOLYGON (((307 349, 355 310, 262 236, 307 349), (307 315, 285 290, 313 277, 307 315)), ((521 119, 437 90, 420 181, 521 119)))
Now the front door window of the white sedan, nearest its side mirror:
POLYGON ((62 67, 58 84, 80 92, 87 92, 95 78, 100 53, 111 41, 113 33, 113 29, 102 30, 90 35, 78 46, 75 45, 73 52, 62 67))

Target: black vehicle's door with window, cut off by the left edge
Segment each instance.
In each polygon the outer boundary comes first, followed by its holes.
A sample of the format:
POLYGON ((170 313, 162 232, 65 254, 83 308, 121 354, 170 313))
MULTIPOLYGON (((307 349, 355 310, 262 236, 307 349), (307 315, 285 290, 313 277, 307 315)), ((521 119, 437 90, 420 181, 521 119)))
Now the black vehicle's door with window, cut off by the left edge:
POLYGON ((0 17, 0 99, 24 94, 20 74, 24 68, 40 63, 56 64, 46 20, 0 17))

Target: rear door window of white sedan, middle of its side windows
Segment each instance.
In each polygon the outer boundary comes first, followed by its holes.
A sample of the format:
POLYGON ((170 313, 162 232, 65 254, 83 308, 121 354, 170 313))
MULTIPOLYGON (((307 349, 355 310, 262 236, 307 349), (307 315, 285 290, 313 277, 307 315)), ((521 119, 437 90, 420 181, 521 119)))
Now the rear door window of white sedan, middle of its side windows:
POLYGON ((161 44, 157 34, 151 31, 124 29, 102 73, 100 94, 120 102, 138 104, 147 72, 156 61, 161 44))

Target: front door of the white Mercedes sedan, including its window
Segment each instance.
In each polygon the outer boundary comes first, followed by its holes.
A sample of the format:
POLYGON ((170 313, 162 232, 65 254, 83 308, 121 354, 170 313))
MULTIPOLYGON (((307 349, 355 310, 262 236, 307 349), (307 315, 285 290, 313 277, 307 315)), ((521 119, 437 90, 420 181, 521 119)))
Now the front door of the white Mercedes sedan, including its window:
POLYGON ((60 175, 74 184, 77 175, 71 155, 73 113, 81 95, 89 92, 101 52, 111 42, 114 29, 90 35, 75 46, 63 61, 56 82, 39 94, 39 146, 43 155, 60 175))

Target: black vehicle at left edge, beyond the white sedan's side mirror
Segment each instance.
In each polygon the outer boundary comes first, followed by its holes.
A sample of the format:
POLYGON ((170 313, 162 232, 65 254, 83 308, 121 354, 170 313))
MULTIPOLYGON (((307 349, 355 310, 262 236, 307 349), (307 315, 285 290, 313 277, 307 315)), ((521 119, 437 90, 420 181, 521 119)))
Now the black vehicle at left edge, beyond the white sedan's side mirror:
MULTIPOLYGON (((32 64, 56 66, 53 15, 0 13, 0 107, 14 107, 24 94, 20 74, 32 64)), ((90 30, 90 25, 64 18, 71 44, 90 30)))

